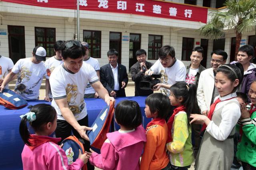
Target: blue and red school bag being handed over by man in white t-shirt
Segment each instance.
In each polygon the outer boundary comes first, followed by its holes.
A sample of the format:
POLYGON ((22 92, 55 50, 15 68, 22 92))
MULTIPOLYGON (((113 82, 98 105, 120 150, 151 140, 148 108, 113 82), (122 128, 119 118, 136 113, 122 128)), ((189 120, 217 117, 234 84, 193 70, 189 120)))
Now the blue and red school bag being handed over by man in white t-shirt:
POLYGON ((107 139, 106 134, 110 130, 110 125, 114 123, 114 102, 110 101, 110 104, 104 107, 94 123, 92 124, 92 130, 87 131, 87 135, 90 139, 90 145, 94 148, 100 149, 107 139))

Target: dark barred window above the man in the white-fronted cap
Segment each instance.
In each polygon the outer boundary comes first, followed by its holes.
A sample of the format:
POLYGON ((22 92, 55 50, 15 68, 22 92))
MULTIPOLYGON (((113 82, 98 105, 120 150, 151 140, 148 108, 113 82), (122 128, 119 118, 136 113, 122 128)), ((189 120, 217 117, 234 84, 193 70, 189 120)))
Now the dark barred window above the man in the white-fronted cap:
POLYGON ((56 42, 55 28, 35 27, 35 44, 42 46, 46 50, 46 57, 52 57, 54 53, 54 43, 56 42))

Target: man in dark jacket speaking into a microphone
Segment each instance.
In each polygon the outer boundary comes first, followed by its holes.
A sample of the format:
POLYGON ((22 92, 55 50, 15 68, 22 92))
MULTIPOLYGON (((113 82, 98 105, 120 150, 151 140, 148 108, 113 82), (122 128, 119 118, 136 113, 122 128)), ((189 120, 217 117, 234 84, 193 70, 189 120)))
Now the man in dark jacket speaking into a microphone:
POLYGON ((153 93, 153 90, 144 90, 140 88, 140 81, 144 76, 145 71, 150 68, 153 63, 146 61, 147 52, 144 49, 136 51, 137 63, 131 67, 132 81, 135 82, 135 96, 148 96, 153 93))

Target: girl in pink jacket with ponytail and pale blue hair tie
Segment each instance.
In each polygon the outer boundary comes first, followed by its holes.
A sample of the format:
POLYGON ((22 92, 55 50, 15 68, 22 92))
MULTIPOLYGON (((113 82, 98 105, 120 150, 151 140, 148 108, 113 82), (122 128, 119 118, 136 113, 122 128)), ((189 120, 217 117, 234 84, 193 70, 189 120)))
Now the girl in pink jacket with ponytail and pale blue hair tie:
POLYGON ((20 117, 20 136, 26 144, 21 154, 24 170, 80 170, 86 164, 87 155, 80 152, 78 159, 68 165, 64 150, 57 145, 61 138, 48 137, 57 126, 54 107, 37 104, 20 117), (29 134, 27 121, 35 135, 29 134))

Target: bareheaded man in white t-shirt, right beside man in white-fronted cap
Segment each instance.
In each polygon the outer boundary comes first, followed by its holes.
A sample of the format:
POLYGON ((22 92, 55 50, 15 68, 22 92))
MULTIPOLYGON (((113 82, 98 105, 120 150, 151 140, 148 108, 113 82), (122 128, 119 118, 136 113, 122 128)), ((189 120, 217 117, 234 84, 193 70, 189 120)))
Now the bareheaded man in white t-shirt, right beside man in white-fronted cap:
POLYGON ((56 43, 53 46, 55 55, 52 56, 51 58, 47 59, 44 63, 47 68, 47 70, 46 70, 47 74, 45 77, 46 78, 46 81, 45 81, 46 96, 45 96, 44 100, 49 101, 49 102, 52 101, 52 92, 51 92, 51 88, 50 88, 49 78, 50 78, 50 75, 51 75, 52 71, 54 70, 54 68, 56 68, 57 66, 59 66, 63 63, 61 51, 64 49, 64 43, 65 43, 65 41, 56 41, 56 43))

